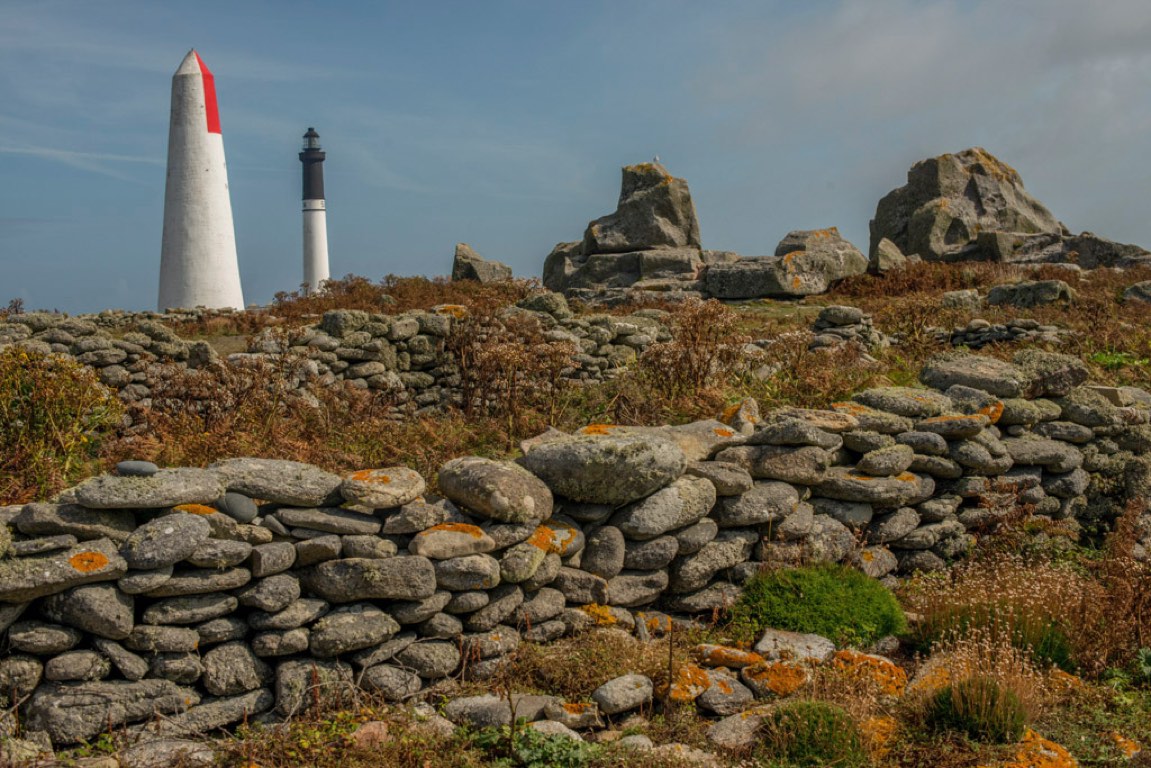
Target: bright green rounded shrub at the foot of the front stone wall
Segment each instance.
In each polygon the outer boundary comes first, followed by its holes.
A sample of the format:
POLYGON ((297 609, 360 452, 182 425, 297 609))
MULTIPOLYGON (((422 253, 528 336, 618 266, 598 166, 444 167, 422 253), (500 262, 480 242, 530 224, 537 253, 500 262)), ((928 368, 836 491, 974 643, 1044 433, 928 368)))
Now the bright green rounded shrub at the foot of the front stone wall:
POLYGON ((837 564, 754 576, 730 614, 732 630, 754 639, 765 629, 814 632, 840 644, 868 645, 902 632, 907 619, 887 587, 837 564))

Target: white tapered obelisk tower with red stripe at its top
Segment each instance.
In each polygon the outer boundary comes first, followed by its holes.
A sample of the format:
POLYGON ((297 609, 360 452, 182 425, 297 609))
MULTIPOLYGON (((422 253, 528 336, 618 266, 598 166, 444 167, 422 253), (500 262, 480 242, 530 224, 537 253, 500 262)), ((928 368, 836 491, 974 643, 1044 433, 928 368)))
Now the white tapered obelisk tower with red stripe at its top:
POLYGON ((215 78, 196 51, 171 77, 157 303, 244 309, 215 78))

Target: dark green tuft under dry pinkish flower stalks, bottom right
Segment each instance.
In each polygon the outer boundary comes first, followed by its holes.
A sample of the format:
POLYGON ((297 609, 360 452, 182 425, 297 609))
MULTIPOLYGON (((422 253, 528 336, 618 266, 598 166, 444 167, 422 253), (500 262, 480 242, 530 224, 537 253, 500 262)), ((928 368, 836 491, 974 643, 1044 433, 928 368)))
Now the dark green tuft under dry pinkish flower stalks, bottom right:
POLYGON ((928 722, 978 742, 1008 744, 1023 736, 1027 712, 1009 687, 991 677, 967 677, 936 692, 928 722))

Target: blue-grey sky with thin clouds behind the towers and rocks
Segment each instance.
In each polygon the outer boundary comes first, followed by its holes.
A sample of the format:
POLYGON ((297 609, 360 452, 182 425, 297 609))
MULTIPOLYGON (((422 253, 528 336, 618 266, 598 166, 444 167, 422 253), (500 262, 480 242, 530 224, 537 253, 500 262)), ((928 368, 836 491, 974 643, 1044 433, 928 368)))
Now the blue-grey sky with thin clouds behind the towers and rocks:
POLYGON ((619 169, 688 181, 703 246, 861 250, 916 160, 983 146, 1075 231, 1151 248, 1148 0, 0 0, 0 306, 153 309, 170 78, 215 75, 245 299, 302 274, 538 276, 619 169))

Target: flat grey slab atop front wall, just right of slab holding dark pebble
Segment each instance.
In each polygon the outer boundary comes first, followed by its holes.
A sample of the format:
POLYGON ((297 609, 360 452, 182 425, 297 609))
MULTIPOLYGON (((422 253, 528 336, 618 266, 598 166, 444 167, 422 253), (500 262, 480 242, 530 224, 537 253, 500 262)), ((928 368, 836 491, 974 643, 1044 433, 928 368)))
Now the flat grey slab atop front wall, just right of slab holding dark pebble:
MULTIPOLYGON (((340 476, 300 462, 229 458, 208 466, 227 489, 290 507, 340 503, 340 476)), ((219 495, 219 494, 218 494, 219 495)))

